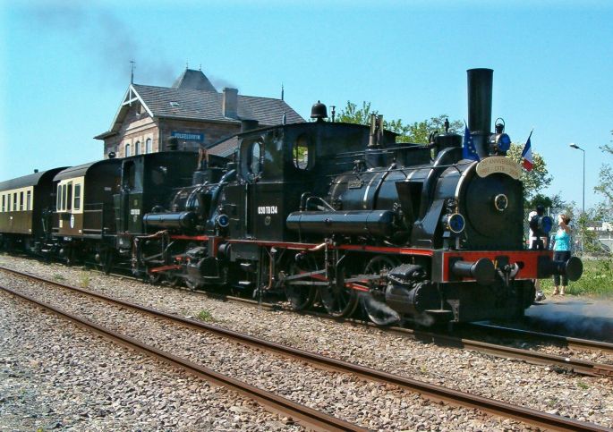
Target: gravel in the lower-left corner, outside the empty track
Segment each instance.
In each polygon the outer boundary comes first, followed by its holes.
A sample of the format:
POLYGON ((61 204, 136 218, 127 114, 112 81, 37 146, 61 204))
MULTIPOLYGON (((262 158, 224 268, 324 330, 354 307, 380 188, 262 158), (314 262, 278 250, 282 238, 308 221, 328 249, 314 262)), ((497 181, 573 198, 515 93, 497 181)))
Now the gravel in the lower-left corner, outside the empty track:
POLYGON ((0 313, 2 431, 302 430, 11 295, 0 313))

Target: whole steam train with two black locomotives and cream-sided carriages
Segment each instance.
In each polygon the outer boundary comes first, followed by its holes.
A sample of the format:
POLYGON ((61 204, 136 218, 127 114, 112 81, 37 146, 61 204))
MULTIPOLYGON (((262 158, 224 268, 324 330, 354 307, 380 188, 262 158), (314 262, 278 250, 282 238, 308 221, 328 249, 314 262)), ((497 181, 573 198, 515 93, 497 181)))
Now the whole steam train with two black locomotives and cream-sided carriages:
MULTIPOLYGON (((21 192, 0 183, 0 240, 68 262, 89 256, 106 271, 123 264, 154 282, 283 293, 295 310, 361 310, 379 325, 522 316, 533 279, 576 280, 583 265, 524 249, 521 168, 506 157, 504 127, 490 132, 492 73, 468 71, 479 161, 448 130, 429 145, 397 143, 381 116, 370 127, 330 123, 318 103, 313 122, 243 131, 198 155, 36 174, 20 182, 39 197, 24 211, 30 231, 8 227, 21 192)), ((546 217, 533 221, 543 232, 546 217)))

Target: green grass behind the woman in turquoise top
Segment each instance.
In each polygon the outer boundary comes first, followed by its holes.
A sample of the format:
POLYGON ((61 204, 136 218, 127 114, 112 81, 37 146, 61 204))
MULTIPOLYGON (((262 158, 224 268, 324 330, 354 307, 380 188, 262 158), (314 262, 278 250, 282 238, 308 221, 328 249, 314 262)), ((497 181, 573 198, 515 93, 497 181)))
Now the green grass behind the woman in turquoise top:
MULTIPOLYGON (((552 279, 541 280, 541 288, 551 295, 552 279)), ((583 275, 568 284, 567 293, 600 298, 613 298, 613 258, 583 258, 583 275)))

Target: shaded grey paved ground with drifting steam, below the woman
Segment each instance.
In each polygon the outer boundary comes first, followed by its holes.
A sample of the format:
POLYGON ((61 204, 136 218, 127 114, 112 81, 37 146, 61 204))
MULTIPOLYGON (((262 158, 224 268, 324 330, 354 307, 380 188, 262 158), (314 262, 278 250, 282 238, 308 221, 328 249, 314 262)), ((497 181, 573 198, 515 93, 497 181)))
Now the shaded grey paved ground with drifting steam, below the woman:
POLYGON ((526 310, 535 330, 557 335, 613 342, 613 302, 571 299, 545 303, 526 310))

